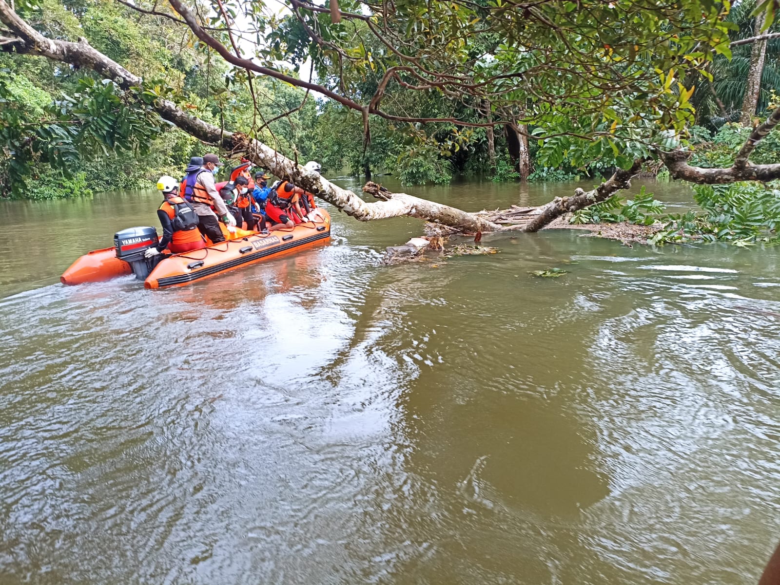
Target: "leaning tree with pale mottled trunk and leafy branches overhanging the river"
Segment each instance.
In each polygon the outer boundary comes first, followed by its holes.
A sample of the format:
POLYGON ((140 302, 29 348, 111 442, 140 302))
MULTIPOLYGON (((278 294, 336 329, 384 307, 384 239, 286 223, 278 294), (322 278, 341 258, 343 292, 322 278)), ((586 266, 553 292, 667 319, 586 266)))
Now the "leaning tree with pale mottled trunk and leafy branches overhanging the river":
MULTIPOLYGON (((557 166, 566 156, 576 164, 601 160, 619 167, 597 189, 545 206, 526 231, 624 189, 642 162, 651 158, 660 158, 672 176, 694 182, 780 178, 780 164, 747 161, 757 141, 780 122, 780 109, 753 130, 732 167, 701 169, 687 164, 693 87, 682 80, 711 76, 707 69, 714 58, 730 54, 729 24, 724 19, 728 5, 710 0, 684 4, 434 0, 424 5, 401 0, 341 2, 332 8, 289 0, 291 13, 281 19, 269 15, 261 0, 198 5, 170 0, 171 9, 121 1, 141 13, 168 19, 183 34, 196 37, 206 51, 232 66, 229 83, 246 85, 252 95, 261 79, 278 79, 356 111, 366 144, 374 118, 407 125, 410 132, 438 124, 463 129, 446 145, 452 149, 468 141, 470 129, 502 125, 523 136, 527 135, 523 128, 530 125, 533 139, 541 141, 539 157, 545 164, 557 166), (299 79, 279 65, 282 60, 300 64, 306 58, 314 64, 317 83, 299 79), (406 95, 440 97, 448 104, 446 113, 406 111, 401 99, 406 95), (486 103, 490 111, 483 116, 486 103)), ((34 8, 25 9, 35 13, 34 8)), ((143 142, 144 132, 154 130, 154 115, 159 115, 203 142, 242 153, 274 174, 293 179, 360 220, 413 215, 464 230, 497 227, 470 213, 404 194, 378 192, 387 200, 366 203, 261 142, 268 127, 264 116, 253 116, 243 132, 230 132, 190 115, 176 88, 129 71, 87 39, 65 41, 48 30, 48 36, 42 34, 5 0, 0 0, 0 22, 6 29, 0 30, 2 51, 94 69, 108 79, 104 86, 110 87, 115 100, 101 105, 104 109, 97 118, 108 115, 114 121, 112 129, 126 129, 123 140, 143 142)), ((250 108, 258 112, 257 100, 250 108)), ((67 108, 62 115, 70 115, 67 108)), ((88 121, 76 126, 81 137, 108 142, 106 133, 88 121)), ((46 144, 68 142, 36 139, 40 142, 33 148, 41 152, 46 144)))

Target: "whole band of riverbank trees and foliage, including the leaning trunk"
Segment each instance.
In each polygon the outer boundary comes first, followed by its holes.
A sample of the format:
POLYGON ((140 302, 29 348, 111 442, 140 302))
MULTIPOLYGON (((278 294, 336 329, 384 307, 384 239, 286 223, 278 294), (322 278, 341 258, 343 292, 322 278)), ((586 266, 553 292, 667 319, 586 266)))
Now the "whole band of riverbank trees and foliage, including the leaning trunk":
POLYGON ((0 0, 5 195, 34 196, 42 177, 61 177, 63 192, 66 181, 140 184, 200 143, 360 220, 413 215, 466 231, 498 225, 381 189, 367 203, 296 162, 407 184, 605 177, 523 231, 609 199, 643 169, 737 184, 712 188, 716 199, 780 178, 772 2, 285 7, 0 0))

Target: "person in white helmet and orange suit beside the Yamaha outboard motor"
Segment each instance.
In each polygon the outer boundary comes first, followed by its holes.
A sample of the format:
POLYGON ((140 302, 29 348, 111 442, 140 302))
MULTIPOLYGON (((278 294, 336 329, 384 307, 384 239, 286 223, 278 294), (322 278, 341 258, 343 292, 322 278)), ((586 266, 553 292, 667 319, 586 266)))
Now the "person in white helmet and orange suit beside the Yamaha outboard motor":
POLYGON ((168 248, 173 254, 200 250, 206 247, 206 241, 198 227, 198 216, 193 206, 179 197, 179 184, 176 179, 163 175, 157 181, 157 188, 163 196, 163 202, 157 210, 162 225, 162 239, 158 245, 144 252, 151 258, 168 248))

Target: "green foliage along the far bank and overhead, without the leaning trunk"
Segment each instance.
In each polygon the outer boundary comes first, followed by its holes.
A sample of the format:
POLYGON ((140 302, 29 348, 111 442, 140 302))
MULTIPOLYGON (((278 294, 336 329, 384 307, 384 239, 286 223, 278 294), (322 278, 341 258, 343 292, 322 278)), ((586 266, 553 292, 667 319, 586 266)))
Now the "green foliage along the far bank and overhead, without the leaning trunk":
MULTIPOLYGON (((47 164, 66 177, 83 170, 94 189, 145 185, 163 172, 176 176, 202 148, 154 114, 150 105, 161 98, 301 162, 317 159, 353 174, 392 171, 407 185, 449 182, 454 173, 516 178, 500 127, 491 170, 484 128, 464 129, 452 119, 479 125, 500 118, 533 129, 532 181, 612 172, 678 146, 692 148, 694 162, 720 166, 746 132, 727 125, 712 138, 695 125, 694 105, 704 108, 711 72, 743 84, 743 73, 735 69, 729 77, 719 68, 749 55, 750 47, 738 48, 729 61, 729 34, 749 36, 755 2, 566 0, 517 9, 505 2, 402 0, 391 11, 355 0, 339 4, 341 23, 306 7, 268 10, 264 0, 226 0, 201 14, 225 46, 231 40, 217 8, 253 23, 242 34, 257 41, 256 63, 296 76, 310 60, 328 90, 358 104, 376 97, 372 105, 395 119, 371 115, 370 141, 362 112, 335 100, 317 104, 287 83, 232 69, 171 19, 114 0, 20 0, 17 9, 38 30, 70 41, 87 37, 144 76, 144 88, 121 92, 94 72, 29 58, 20 66, 20 55, 0 55, 7 69, 0 73, 0 195, 27 192, 26 178, 47 164)), ((776 43, 767 70, 778 62, 776 43)), ((772 79, 764 79, 767 89, 772 79)), ((713 83, 718 93, 718 79, 713 83)), ((770 135, 753 161, 775 162, 778 153, 770 135)), ((633 213, 631 203, 626 213, 633 213)), ((622 215, 616 211, 605 213, 622 215)))

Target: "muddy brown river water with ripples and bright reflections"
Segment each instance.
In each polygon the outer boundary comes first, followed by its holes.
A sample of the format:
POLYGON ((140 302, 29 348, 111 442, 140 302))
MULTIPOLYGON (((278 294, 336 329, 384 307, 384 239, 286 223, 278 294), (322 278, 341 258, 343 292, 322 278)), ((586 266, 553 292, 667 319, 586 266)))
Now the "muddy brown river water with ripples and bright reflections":
POLYGON ((380 266, 420 223, 334 212, 327 248, 190 287, 58 283, 157 199, 0 203, 3 585, 757 582, 780 248, 543 231, 380 266))

